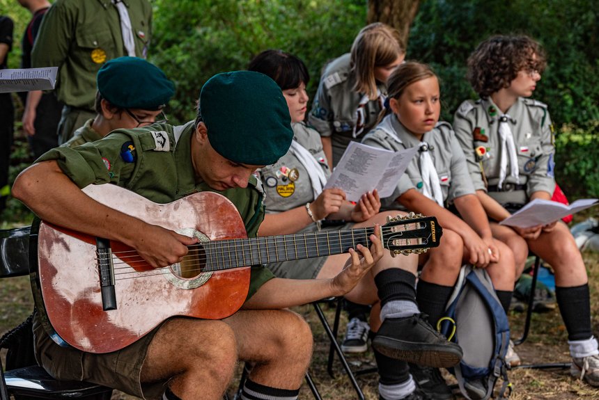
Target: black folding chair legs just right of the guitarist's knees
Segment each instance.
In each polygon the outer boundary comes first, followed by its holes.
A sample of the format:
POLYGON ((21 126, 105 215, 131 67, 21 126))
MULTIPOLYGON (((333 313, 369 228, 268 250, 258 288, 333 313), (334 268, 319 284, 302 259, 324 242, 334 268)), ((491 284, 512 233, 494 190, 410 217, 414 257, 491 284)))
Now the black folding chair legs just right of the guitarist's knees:
POLYGON ((325 328, 325 333, 327 333, 329 341, 331 342, 329 346, 329 359, 327 363, 327 371, 329 372, 329 375, 331 376, 331 378, 335 377, 335 373, 333 370, 333 362, 336 354, 339 357, 339 361, 341 362, 343 369, 345 370, 345 374, 347 374, 350 383, 352 383, 352 386, 356 391, 357 398, 360 400, 364 400, 364 392, 362 392, 361 387, 358 385, 356 376, 372 374, 373 372, 376 372, 377 369, 375 367, 371 367, 359 369, 357 371, 352 371, 348 363, 348 360, 345 358, 345 354, 343 354, 343 351, 341 350, 341 346, 339 346, 339 342, 337 342, 337 334, 339 333, 339 321, 341 319, 341 310, 343 310, 343 297, 322 299, 320 301, 315 301, 314 303, 312 303, 312 305, 314 307, 314 310, 316 310, 316 314, 320 319, 320 323, 322 323, 322 327, 325 328), (331 328, 329 321, 325 316, 325 313, 322 311, 322 308, 320 307, 320 303, 332 303, 335 301, 335 317, 333 321, 333 328, 331 328))

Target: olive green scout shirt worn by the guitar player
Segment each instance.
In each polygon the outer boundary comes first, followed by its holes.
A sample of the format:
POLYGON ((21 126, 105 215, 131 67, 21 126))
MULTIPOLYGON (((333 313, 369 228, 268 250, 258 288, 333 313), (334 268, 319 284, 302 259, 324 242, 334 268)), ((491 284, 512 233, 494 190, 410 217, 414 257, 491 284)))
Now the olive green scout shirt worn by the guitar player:
MULTIPOLYGON (((194 130, 193 121, 178 127, 154 124, 117 129, 100 141, 75 148, 56 147, 38 162, 56 160, 79 188, 116 184, 148 200, 166 204, 192 193, 214 191, 205 182, 196 182, 191 153, 194 130)), ((256 237, 264 219, 264 193, 260 187, 252 175, 246 189, 215 191, 237 207, 248 237, 256 237)), ((247 298, 271 278, 272 273, 263 266, 252 266, 247 298)))

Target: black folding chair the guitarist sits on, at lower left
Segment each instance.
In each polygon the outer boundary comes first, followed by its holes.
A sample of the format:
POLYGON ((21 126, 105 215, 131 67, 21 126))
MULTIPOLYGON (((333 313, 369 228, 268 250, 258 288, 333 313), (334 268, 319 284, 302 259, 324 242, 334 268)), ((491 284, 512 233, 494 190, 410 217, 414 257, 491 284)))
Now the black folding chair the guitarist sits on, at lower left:
MULTIPOLYGON (((0 278, 29 274, 29 227, 0 230, 0 278)), ((3 335, 0 349, 15 343, 24 330, 31 329, 31 319, 3 335)), ((33 346, 33 344, 31 344, 33 346)), ((79 381, 56 381, 38 365, 3 372, 0 362, 0 399, 10 396, 37 399, 109 400, 110 387, 79 381)))

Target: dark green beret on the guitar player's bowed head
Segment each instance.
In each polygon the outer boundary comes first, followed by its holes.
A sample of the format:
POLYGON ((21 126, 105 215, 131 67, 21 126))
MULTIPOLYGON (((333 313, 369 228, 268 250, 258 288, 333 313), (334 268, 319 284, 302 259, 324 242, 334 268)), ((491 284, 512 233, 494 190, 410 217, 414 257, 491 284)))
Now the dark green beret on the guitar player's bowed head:
POLYGON ((200 113, 212 148, 236 163, 274 164, 293 139, 281 88, 259 72, 226 72, 208 79, 200 93, 200 113))

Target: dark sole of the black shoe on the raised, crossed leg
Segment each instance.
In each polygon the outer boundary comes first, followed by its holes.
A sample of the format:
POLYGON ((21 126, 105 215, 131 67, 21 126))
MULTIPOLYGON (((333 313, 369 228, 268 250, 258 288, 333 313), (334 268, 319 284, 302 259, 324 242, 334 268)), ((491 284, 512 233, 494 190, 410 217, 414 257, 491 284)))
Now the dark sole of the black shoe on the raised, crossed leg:
POLYGON ((462 360, 461 351, 444 345, 406 343, 380 336, 373 339, 372 345, 376 351, 387 357, 424 367, 449 368, 462 360))

